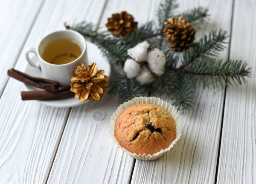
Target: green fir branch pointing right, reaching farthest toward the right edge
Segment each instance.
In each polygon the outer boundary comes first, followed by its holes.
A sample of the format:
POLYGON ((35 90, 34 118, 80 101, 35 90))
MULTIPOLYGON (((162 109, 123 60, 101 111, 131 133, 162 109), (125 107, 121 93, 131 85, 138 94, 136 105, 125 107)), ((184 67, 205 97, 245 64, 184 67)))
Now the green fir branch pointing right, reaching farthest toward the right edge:
POLYGON ((245 76, 250 77, 251 68, 242 60, 227 60, 223 64, 222 60, 205 58, 189 66, 185 73, 195 75, 204 86, 212 84, 213 87, 221 84, 242 84, 246 83, 245 76))

